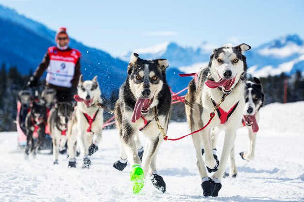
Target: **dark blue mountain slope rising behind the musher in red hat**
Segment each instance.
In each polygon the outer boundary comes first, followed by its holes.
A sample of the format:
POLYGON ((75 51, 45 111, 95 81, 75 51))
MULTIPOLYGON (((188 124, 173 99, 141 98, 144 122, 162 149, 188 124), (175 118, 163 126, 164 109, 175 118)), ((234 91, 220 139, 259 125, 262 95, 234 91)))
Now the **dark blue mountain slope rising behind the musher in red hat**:
MULTIPOLYGON (((6 67, 16 65, 22 74, 28 74, 41 62, 47 48, 54 46, 55 31, 0 5, 0 36, 0 63, 5 63, 6 67)), ((103 94, 109 95, 122 84, 127 62, 72 38, 70 47, 82 53, 84 79, 99 76, 103 94)))

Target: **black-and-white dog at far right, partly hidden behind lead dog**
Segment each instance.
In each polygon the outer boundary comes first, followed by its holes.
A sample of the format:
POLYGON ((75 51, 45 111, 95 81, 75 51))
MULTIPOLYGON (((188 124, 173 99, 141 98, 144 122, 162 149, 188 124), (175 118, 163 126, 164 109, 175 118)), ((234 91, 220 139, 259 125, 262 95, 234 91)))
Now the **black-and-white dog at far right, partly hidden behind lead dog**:
MULTIPOLYGON (((260 119, 259 110, 264 104, 264 93, 262 90, 261 81, 258 78, 253 78, 252 81, 247 81, 245 86, 245 108, 243 111, 243 119, 239 128, 246 126, 248 129, 249 144, 248 151, 241 152, 239 155, 247 161, 254 159, 256 133, 259 130, 258 121, 260 119)), ((216 148, 218 139, 218 131, 212 130, 212 148, 216 148)), ((232 148, 229 158, 229 173, 224 173, 224 177, 236 177, 237 168, 235 162, 235 147, 232 148)))

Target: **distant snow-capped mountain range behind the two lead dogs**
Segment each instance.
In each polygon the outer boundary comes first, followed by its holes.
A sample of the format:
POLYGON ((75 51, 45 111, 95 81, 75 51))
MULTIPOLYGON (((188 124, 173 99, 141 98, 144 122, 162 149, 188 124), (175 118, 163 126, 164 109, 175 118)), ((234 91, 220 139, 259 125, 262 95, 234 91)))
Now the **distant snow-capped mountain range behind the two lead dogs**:
MULTIPOLYGON (((266 77, 269 74, 278 75, 282 72, 293 74, 296 70, 304 71, 304 41, 296 34, 282 36, 258 47, 251 46, 253 48, 245 55, 249 73, 253 76, 266 77)), ((220 45, 204 42, 194 48, 181 47, 172 42, 134 51, 147 58, 166 58, 171 67, 190 73, 206 66, 212 49, 216 47, 220 45)), ((122 54, 120 59, 126 60, 126 54, 122 54)))

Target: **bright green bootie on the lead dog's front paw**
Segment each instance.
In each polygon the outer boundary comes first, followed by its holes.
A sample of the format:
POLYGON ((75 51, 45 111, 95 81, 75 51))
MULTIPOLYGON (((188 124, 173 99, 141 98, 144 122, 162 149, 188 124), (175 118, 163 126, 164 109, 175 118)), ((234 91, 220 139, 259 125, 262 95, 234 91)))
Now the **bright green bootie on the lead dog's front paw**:
POLYGON ((133 193, 138 194, 145 185, 144 171, 139 164, 133 165, 132 168, 133 169, 130 172, 130 181, 133 182, 133 193))

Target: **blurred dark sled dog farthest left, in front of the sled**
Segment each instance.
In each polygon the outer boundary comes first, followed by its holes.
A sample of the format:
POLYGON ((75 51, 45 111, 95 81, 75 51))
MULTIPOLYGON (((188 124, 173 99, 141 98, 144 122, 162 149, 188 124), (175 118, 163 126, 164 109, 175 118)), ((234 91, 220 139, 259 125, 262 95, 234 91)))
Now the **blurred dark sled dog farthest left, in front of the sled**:
POLYGON ((25 129, 27 136, 27 146, 25 149, 25 157, 29 155, 29 151, 36 155, 36 149, 42 144, 45 137, 45 127, 47 123, 47 107, 42 102, 33 102, 31 104, 31 111, 28 112, 25 118, 25 129), (38 138, 34 142, 33 133, 37 130, 38 138))

